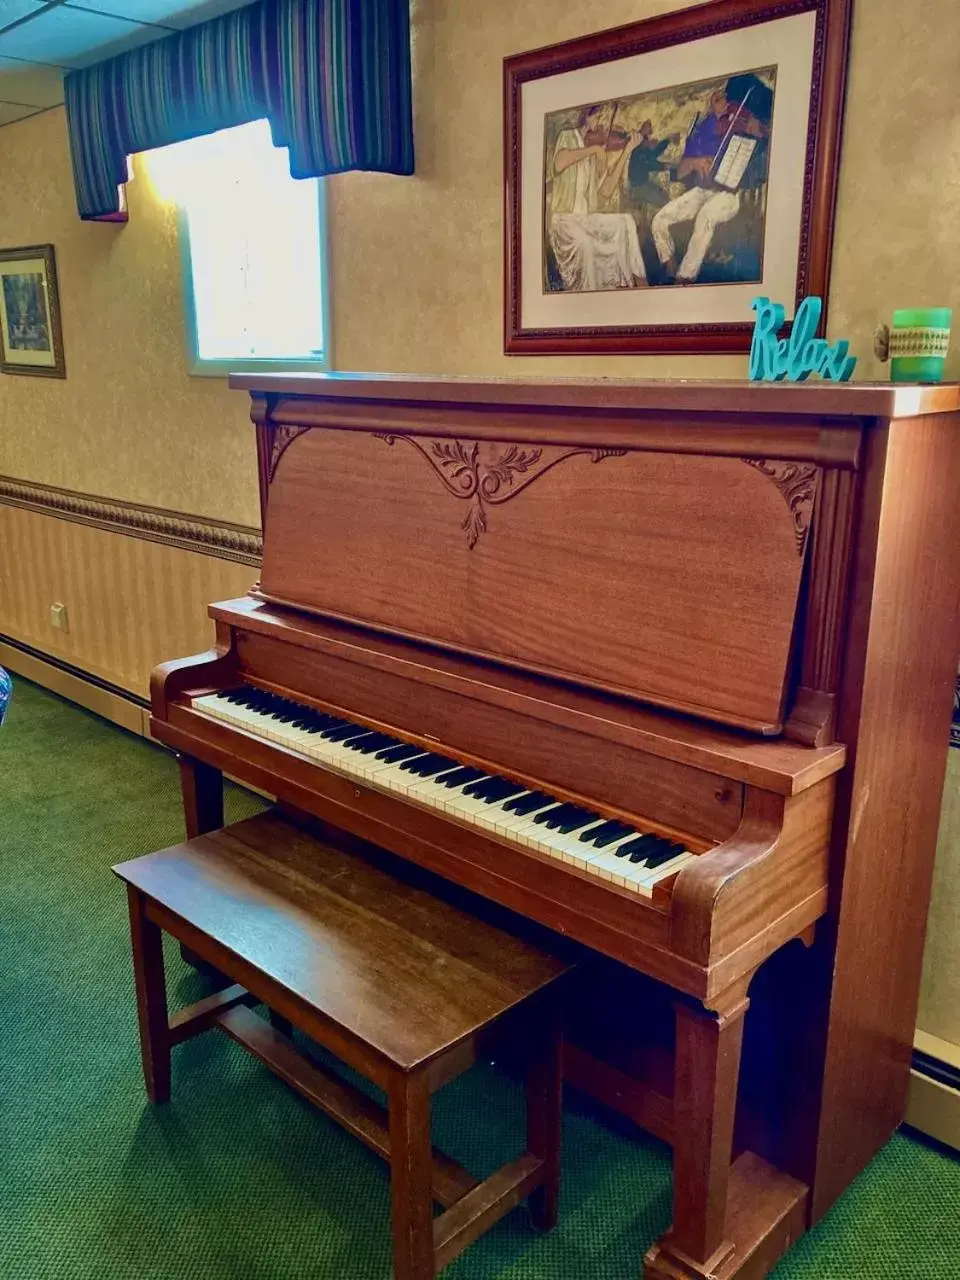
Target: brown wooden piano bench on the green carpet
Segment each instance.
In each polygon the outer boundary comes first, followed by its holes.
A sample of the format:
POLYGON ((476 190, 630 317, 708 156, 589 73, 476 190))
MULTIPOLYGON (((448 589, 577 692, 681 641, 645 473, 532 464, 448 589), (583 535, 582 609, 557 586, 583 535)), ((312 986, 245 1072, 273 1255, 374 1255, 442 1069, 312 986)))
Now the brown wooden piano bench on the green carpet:
POLYGON ((529 1198, 557 1219, 558 980, 570 965, 320 842, 275 813, 114 872, 127 883, 147 1097, 170 1097, 170 1050, 211 1028, 390 1162, 396 1280, 426 1280, 529 1198), (163 932, 229 986, 168 1016, 163 932), (268 1006, 270 1020, 250 1007, 268 1006), (433 1148, 430 1094, 524 1005, 526 1151, 485 1181, 433 1148), (388 1111, 305 1057, 293 1029, 387 1093, 388 1111), (445 1212, 434 1217, 433 1202, 445 1212))

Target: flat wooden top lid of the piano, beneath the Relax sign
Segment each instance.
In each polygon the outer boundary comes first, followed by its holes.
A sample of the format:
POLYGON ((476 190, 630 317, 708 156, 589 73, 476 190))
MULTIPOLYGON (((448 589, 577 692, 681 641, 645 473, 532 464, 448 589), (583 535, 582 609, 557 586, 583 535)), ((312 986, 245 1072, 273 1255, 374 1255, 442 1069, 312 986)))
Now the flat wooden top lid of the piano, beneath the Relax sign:
MULTIPOLYGON (((472 378, 422 374, 233 374, 237 390, 326 399, 529 404, 568 410, 897 419, 960 411, 960 383, 750 383, 716 379, 472 378)), ((824 424, 826 425, 826 424, 824 424)))

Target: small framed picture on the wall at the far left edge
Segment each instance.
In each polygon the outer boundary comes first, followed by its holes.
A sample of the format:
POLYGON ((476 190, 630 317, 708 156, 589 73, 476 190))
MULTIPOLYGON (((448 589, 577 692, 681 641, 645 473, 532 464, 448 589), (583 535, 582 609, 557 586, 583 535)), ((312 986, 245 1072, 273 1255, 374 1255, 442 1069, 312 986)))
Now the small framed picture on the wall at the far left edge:
POLYGON ((0 248, 0 371, 67 376, 52 244, 0 248))

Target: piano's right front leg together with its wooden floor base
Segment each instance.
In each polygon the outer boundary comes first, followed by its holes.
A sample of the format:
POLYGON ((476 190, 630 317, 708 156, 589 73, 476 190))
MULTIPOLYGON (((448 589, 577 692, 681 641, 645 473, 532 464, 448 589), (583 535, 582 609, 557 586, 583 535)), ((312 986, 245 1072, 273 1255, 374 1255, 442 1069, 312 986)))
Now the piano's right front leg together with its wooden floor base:
POLYGON ((750 1151, 731 1162, 749 982, 676 1006, 673 1225, 644 1280, 760 1280, 805 1229, 803 1183, 750 1151))

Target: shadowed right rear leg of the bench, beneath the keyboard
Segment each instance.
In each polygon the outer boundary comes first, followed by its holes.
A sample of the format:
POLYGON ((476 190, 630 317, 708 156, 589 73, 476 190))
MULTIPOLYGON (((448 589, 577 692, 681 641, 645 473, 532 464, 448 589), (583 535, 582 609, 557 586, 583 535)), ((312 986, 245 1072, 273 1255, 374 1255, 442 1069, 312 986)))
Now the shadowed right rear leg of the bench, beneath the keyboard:
POLYGON ((544 1162, 544 1181, 529 1199, 534 1225, 557 1225, 561 1130, 563 1124, 563 1020, 556 1000, 548 1002, 532 1037, 526 1078, 526 1146, 544 1162))

